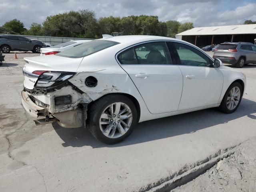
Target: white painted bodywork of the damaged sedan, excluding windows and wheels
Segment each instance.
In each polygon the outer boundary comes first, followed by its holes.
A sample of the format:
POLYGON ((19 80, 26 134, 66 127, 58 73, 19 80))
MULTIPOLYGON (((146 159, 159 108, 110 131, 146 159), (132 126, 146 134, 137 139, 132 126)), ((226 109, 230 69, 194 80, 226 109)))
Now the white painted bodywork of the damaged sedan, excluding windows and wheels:
MULTIPOLYGON (((55 113, 75 110, 78 103, 93 102, 106 94, 128 94, 138 101, 139 122, 142 122, 217 107, 232 82, 242 80, 246 86, 246 78, 241 72, 222 65, 219 68, 180 65, 140 66, 122 65, 117 60, 118 54, 126 48, 151 41, 181 42, 202 52, 196 46, 182 40, 159 36, 116 36, 106 40, 119 44, 84 58, 66 58, 58 55, 24 58, 27 62, 25 71, 30 73, 34 70, 76 72, 68 81, 84 92, 77 96, 76 91, 67 91, 72 90, 68 86, 56 92, 31 95, 47 104, 47 111, 54 116, 55 113), (148 76, 138 78, 136 74, 148 76), (84 80, 88 76, 97 78, 96 87, 85 86, 84 80), (72 98, 74 96, 77 100, 72 100, 71 105, 55 108, 54 97, 66 94, 72 95, 72 98)), ((214 62, 212 58, 209 59, 214 62)), ((25 77, 24 87, 31 90, 34 86, 32 81, 35 79, 25 77)), ((65 126, 64 124, 62 122, 62 126, 65 126)))

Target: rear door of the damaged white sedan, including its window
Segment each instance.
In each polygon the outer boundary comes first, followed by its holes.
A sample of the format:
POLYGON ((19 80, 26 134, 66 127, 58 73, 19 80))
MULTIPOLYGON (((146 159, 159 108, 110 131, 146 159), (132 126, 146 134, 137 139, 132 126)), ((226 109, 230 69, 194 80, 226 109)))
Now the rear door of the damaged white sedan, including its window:
POLYGON ((118 54, 118 60, 152 114, 178 110, 182 74, 172 61, 166 42, 133 46, 118 54))

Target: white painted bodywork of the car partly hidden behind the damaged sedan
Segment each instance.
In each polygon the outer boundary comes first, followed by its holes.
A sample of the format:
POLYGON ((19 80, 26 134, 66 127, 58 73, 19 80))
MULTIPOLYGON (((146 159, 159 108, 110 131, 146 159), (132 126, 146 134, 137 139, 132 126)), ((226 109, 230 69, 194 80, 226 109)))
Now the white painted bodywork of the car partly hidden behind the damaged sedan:
POLYGON ((89 42, 89 41, 92 41, 92 40, 72 40, 70 42, 74 42, 74 44, 70 44, 70 45, 67 45, 67 46, 63 46, 62 47, 62 46, 60 46, 60 44, 58 44, 56 46, 41 48, 40 56, 45 56, 45 53, 52 52, 52 51, 62 52, 62 51, 67 50, 67 49, 69 49, 71 47, 74 47, 76 45, 79 45, 79 44, 82 44, 82 43, 86 43, 86 42, 89 42))

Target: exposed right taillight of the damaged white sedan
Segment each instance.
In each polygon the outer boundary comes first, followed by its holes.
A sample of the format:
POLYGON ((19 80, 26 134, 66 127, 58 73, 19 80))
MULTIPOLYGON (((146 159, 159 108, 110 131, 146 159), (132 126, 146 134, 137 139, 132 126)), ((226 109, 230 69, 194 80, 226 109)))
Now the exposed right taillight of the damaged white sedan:
MULTIPOLYGON (((40 71, 37 71, 38 73, 40 71)), ((42 71, 41 71, 42 72, 42 71)), ((34 72, 33 72, 34 73, 34 72)), ((50 87, 55 84, 68 80, 76 74, 75 72, 56 72, 56 71, 44 71, 42 72, 36 82, 36 87, 50 87)))

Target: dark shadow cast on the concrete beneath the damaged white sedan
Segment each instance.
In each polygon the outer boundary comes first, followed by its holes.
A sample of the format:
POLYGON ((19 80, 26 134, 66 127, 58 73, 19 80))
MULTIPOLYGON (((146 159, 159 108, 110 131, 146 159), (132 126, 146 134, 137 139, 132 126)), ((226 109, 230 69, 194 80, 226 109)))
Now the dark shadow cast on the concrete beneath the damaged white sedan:
POLYGON ((62 146, 82 147, 120 147, 133 145, 152 140, 169 138, 182 134, 194 133, 197 130, 210 128, 218 124, 225 124, 231 120, 248 116, 256 119, 256 102, 242 99, 242 102, 232 114, 224 114, 214 108, 150 120, 139 123, 133 133, 123 142, 114 145, 102 144, 96 140, 87 129, 84 128, 62 128, 57 123, 52 124, 56 133, 62 138, 62 146))

